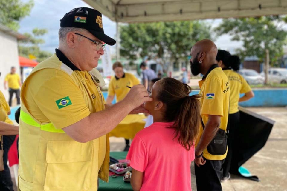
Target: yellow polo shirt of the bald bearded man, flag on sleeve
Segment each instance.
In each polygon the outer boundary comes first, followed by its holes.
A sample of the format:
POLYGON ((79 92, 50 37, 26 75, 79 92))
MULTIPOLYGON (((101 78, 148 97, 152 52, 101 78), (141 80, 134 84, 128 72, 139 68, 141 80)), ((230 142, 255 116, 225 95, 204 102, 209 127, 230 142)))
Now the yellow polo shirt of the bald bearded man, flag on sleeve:
MULTIPOLYGON (((205 76, 203 80, 199 81, 199 95, 202 96, 200 99, 202 121, 206 124, 208 115, 220 115, 221 123, 219 128, 226 130, 230 94, 228 78, 217 64, 213 65, 205 76)), ((203 128, 200 126, 196 144, 199 142, 202 133, 203 128)), ((224 155, 212 155, 208 153, 207 149, 203 151, 203 156, 208 160, 223 160, 226 154, 227 151, 224 155)))

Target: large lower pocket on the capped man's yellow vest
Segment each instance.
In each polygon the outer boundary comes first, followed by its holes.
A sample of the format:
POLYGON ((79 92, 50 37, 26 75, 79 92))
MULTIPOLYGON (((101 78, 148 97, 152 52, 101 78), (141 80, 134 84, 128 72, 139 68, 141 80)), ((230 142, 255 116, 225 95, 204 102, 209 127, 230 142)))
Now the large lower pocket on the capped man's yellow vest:
POLYGON ((91 185, 92 150, 92 142, 48 141, 44 190, 88 190, 91 185))

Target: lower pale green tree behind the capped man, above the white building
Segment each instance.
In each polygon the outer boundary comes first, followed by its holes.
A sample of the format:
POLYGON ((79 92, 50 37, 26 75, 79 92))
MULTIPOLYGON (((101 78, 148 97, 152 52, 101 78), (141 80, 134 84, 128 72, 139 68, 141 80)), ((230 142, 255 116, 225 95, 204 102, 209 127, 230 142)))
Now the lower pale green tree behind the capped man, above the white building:
POLYGON ((33 55, 37 58, 38 62, 42 62, 48 57, 52 56, 50 52, 40 50, 39 45, 44 44, 45 41, 40 36, 43 36, 48 32, 47 29, 35 28, 32 34, 24 33, 27 39, 19 41, 19 54, 20 56, 28 58, 29 55, 33 55))

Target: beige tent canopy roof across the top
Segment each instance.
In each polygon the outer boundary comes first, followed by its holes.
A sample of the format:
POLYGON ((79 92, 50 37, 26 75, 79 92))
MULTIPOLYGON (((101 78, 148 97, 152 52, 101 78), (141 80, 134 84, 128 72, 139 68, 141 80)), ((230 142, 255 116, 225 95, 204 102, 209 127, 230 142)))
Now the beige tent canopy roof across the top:
POLYGON ((287 0, 84 0, 117 22, 156 22, 287 14, 287 0))

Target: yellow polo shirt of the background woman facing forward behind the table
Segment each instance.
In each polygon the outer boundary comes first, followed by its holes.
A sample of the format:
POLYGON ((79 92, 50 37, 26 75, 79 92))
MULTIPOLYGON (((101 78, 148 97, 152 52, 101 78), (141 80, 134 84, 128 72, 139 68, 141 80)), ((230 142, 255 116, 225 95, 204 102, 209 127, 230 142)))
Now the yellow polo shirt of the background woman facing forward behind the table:
POLYGON ((121 101, 126 95, 129 93, 129 87, 133 87, 135 85, 140 84, 138 78, 130 73, 125 73, 122 78, 116 78, 115 76, 112 77, 109 83, 109 96, 116 95, 116 100, 121 101))

